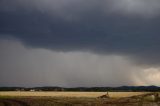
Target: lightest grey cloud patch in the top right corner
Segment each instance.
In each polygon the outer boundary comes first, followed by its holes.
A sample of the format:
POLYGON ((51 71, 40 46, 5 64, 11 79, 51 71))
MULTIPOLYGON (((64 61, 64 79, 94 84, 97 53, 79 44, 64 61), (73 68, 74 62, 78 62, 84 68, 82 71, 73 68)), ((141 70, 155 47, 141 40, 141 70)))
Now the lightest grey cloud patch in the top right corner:
POLYGON ((159 15, 159 0, 113 0, 113 10, 128 15, 159 15))

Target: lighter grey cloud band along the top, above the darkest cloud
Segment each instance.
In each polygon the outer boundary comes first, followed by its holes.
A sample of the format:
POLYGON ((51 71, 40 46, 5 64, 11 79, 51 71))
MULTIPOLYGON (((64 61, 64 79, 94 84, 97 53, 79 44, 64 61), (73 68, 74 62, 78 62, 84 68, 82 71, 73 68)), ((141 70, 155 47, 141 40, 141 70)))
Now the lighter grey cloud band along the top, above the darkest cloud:
POLYGON ((147 16, 159 14, 159 4, 159 0, 1 0, 1 9, 35 9, 65 18, 83 15, 89 10, 147 16))

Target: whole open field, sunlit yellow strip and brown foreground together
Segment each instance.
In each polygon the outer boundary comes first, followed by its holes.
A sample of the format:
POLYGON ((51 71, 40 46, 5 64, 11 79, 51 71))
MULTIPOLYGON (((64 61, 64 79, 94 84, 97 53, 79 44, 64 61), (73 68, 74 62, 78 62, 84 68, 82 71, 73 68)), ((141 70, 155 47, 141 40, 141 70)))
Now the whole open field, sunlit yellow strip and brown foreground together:
POLYGON ((145 92, 0 92, 0 106, 160 106, 145 92), (142 103, 143 102, 143 103, 142 103))

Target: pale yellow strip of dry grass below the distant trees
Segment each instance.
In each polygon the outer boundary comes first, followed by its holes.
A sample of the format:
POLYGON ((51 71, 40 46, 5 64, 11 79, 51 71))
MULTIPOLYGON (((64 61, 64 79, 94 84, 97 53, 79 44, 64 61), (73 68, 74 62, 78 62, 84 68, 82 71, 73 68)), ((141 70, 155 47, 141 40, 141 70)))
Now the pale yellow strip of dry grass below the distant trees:
MULTIPOLYGON (((143 94, 145 92, 109 92, 109 96, 113 98, 129 97, 134 95, 143 94)), ((0 96, 51 96, 51 97, 88 97, 96 98, 106 92, 21 92, 21 91, 7 91, 0 92, 0 96)))

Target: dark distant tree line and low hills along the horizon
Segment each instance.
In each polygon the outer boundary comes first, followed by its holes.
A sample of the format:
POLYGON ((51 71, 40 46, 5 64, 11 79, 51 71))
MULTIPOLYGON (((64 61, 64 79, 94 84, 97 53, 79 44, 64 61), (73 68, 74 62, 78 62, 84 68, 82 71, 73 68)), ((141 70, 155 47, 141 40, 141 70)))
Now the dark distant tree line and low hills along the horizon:
POLYGON ((77 88, 63 88, 63 87, 0 87, 0 91, 82 91, 82 92, 159 92, 158 86, 121 86, 121 87, 77 87, 77 88))

